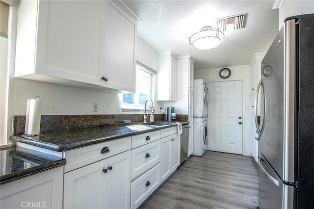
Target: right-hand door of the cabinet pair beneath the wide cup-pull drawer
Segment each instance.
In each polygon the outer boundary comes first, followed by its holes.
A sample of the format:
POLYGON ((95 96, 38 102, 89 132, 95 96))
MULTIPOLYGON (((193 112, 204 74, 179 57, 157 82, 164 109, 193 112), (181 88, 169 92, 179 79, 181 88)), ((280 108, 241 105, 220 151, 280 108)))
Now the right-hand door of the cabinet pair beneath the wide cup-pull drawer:
MULTIPOLYGON (((106 159, 105 206, 107 209, 130 208, 131 151, 106 159), (111 170, 110 170, 111 169, 111 170)), ((92 208, 92 207, 88 207, 92 208)))

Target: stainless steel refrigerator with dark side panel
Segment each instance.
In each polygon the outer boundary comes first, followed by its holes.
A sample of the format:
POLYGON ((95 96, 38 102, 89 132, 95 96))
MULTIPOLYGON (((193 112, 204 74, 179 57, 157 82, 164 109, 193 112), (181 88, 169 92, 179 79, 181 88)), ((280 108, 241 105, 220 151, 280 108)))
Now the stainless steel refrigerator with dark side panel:
POLYGON ((314 208, 314 14, 286 19, 259 88, 258 208, 314 208))

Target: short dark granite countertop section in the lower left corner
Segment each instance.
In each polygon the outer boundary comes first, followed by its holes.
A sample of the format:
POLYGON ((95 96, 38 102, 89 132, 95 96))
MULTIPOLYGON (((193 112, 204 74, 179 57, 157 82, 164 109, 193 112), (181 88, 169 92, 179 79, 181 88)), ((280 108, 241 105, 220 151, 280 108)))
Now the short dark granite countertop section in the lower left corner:
POLYGON ((62 166, 66 159, 22 147, 0 149, 0 184, 62 166))

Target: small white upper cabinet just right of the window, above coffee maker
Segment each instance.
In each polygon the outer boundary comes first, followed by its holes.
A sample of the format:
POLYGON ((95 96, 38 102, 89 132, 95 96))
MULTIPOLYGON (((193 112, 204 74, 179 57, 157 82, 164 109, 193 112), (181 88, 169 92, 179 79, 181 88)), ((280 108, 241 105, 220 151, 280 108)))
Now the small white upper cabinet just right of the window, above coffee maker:
POLYGON ((157 100, 177 100, 177 59, 172 52, 158 54, 157 100))

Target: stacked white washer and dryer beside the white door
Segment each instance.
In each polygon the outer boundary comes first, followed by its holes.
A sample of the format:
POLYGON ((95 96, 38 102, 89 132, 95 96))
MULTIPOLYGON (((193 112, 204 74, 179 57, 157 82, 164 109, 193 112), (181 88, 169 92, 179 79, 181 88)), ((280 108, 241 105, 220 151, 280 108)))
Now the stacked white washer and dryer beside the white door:
POLYGON ((208 87, 203 79, 194 80, 193 154, 203 156, 207 150, 208 87))

